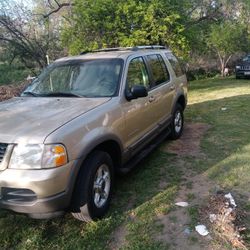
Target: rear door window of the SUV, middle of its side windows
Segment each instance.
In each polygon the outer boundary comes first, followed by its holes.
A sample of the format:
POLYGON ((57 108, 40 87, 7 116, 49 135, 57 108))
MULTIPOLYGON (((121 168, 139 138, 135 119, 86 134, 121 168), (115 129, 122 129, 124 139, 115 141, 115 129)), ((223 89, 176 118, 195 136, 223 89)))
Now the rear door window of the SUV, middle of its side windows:
POLYGON ((154 85, 169 81, 169 72, 161 55, 148 55, 147 60, 153 74, 154 85))

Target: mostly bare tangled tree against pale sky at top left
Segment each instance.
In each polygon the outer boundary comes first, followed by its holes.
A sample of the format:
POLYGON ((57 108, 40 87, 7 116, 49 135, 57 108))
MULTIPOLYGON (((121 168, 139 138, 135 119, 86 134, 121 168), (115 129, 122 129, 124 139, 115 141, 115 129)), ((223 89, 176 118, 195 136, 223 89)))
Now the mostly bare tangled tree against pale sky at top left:
POLYGON ((47 65, 46 55, 53 60, 63 54, 61 18, 45 18, 45 14, 37 13, 47 11, 44 1, 37 1, 31 9, 13 0, 2 0, 0 7, 0 43, 8 50, 10 63, 18 59, 28 68, 43 68, 47 65))

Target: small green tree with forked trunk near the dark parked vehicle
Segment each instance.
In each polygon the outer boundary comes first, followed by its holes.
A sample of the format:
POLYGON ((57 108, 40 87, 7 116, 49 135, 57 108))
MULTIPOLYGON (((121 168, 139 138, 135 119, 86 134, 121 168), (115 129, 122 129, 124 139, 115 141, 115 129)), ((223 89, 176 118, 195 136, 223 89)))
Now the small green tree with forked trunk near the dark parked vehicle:
POLYGON ((245 26, 231 21, 212 25, 208 37, 208 45, 217 54, 220 62, 221 75, 233 54, 246 51, 249 46, 249 37, 245 26))

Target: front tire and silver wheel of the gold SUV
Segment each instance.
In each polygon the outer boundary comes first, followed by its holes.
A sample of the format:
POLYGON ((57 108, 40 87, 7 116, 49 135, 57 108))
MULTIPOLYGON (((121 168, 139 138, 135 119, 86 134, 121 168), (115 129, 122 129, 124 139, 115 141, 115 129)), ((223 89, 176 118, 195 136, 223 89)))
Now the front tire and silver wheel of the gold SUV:
POLYGON ((102 218, 110 205, 113 181, 109 154, 92 152, 78 174, 72 199, 73 217, 85 222, 102 218))

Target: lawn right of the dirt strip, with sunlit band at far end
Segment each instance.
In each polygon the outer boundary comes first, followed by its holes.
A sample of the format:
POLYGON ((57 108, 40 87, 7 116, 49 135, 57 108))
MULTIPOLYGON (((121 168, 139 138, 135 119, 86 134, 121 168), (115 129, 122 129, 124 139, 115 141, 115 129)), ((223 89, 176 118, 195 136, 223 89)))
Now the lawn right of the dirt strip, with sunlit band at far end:
POLYGON ((188 120, 206 122, 211 128, 202 141, 207 159, 197 160, 193 167, 206 171, 222 187, 249 195, 250 81, 228 79, 208 84, 206 80, 203 84, 206 87, 202 88, 201 82, 191 84, 192 104, 187 109, 187 116, 188 120), (195 95, 197 92, 203 99, 195 95))

